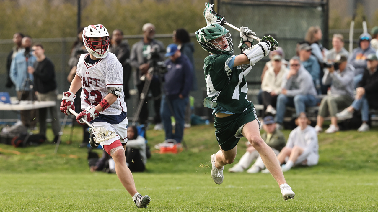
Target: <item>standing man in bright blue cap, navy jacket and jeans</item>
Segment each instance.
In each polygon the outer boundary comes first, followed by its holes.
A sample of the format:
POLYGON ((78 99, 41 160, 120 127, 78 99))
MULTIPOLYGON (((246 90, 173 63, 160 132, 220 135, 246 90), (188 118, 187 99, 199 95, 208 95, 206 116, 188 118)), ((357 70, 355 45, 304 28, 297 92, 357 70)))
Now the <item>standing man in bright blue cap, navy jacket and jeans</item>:
POLYGON ((175 139, 181 143, 184 133, 184 115, 192 88, 192 64, 186 55, 181 54, 177 45, 167 46, 165 61, 167 73, 164 74, 164 96, 161 101, 161 118, 167 139, 175 139), (175 134, 172 133, 171 116, 175 117, 175 134))

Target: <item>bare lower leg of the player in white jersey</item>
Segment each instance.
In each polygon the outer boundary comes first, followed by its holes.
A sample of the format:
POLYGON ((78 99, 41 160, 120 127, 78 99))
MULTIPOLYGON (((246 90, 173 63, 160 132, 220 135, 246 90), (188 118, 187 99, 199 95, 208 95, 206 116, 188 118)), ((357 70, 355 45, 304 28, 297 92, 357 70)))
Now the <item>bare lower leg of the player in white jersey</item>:
POLYGON ((126 165, 125 152, 118 150, 112 155, 112 158, 116 166, 116 173, 119 181, 121 181, 122 185, 133 197, 137 191, 135 188, 133 175, 131 174, 129 167, 126 165))

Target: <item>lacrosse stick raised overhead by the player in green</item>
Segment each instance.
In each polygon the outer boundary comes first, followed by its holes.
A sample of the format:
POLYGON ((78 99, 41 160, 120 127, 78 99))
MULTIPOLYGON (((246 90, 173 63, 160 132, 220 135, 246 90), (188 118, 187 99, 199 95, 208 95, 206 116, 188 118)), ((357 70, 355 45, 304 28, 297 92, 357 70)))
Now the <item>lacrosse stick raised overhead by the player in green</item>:
MULTIPOLYGON (((236 26, 228 23, 225 19, 224 16, 222 15, 219 15, 217 14, 214 9, 213 9, 213 5, 209 5, 209 2, 206 2, 205 3, 205 10, 203 11, 203 16, 205 17, 205 20, 206 20, 206 24, 209 25, 211 23, 218 23, 219 25, 223 26, 223 25, 227 25, 229 27, 231 27, 232 29, 235 29, 237 31, 240 32, 240 28, 237 28, 236 26)), ((254 35, 247 35, 249 38, 252 38, 254 40, 256 40, 257 42, 260 42, 261 39, 254 36, 254 35)), ((275 50, 277 50, 277 46, 274 48, 275 50)))

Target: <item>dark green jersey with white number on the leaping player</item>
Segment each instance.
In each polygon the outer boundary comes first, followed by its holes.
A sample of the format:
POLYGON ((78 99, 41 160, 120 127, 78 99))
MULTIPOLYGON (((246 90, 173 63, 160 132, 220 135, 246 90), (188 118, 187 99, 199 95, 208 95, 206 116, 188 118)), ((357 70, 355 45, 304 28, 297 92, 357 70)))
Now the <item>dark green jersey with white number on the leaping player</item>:
POLYGON ((247 100, 247 82, 245 76, 252 66, 234 67, 235 55, 209 55, 204 60, 204 74, 208 97, 204 106, 214 109, 220 106, 234 114, 240 114, 252 102, 247 100))

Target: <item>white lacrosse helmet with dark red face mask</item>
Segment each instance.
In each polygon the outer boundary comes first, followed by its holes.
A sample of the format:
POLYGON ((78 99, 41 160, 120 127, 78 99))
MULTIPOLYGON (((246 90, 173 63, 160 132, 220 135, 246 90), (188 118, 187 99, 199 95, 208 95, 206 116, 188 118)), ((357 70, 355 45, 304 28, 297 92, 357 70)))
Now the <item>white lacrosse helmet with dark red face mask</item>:
POLYGON ((102 26, 98 25, 89 25, 83 30, 83 42, 85 48, 89 54, 95 56, 96 58, 104 58, 108 55, 109 51, 109 33, 108 30, 102 26), (99 37, 98 41, 91 41, 90 38, 99 37))

